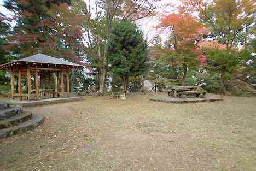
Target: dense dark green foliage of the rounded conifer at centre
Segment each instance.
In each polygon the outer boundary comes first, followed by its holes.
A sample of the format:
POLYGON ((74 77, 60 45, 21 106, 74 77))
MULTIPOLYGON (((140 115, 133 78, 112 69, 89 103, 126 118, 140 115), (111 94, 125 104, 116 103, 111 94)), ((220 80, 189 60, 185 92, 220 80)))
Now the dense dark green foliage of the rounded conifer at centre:
POLYGON ((119 76, 138 76, 146 70, 146 42, 130 21, 114 21, 108 42, 110 70, 119 76))

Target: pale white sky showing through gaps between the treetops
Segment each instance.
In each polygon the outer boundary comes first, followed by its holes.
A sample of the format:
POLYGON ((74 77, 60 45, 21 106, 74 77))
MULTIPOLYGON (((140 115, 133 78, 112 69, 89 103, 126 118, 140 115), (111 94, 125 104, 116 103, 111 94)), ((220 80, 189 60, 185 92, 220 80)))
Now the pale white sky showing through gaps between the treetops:
MULTIPOLYGON (((94 13, 94 11, 96 11, 95 5, 94 5, 95 1, 96 0, 89 0, 88 1, 88 2, 90 2, 91 13, 94 13)), ((166 4, 166 3, 178 4, 178 2, 179 2, 178 0, 162 0, 161 2, 158 2, 158 4, 157 4, 157 6, 158 6, 157 10, 159 12, 158 16, 150 17, 150 18, 147 18, 147 19, 142 19, 142 20, 139 20, 138 22, 136 22, 136 24, 144 32, 144 37, 147 39, 147 41, 150 41, 156 34, 159 34, 157 31, 155 31, 154 27, 156 25, 158 25, 159 17, 161 17, 162 11, 165 11, 167 13, 171 11, 171 7, 170 6, 166 7, 164 4, 166 4)), ((2 5, 3 5, 3 0, 0 0, 0 12, 5 14, 5 15, 11 15, 10 11, 8 11, 2 5)), ((160 36, 162 37, 163 42, 167 38, 165 33, 160 34, 160 36)))

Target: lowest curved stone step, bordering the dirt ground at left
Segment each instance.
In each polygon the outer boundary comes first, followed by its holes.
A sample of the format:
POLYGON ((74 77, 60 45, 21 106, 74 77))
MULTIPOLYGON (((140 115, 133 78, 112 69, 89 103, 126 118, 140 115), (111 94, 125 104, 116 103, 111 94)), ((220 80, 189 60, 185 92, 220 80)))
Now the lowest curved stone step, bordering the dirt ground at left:
POLYGON ((22 122, 17 126, 1 129, 0 138, 9 137, 11 135, 22 133, 27 130, 36 128, 40 125, 40 123, 43 123, 43 122, 44 122, 44 116, 33 116, 31 120, 22 122))

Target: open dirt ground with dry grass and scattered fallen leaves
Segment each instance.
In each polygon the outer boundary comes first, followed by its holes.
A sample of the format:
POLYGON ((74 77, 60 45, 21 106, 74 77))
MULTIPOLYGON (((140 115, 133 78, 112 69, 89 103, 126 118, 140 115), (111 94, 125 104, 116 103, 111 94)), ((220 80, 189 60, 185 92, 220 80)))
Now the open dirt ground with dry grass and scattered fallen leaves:
POLYGON ((0 170, 256 170, 256 98, 167 104, 153 95, 28 108, 39 128, 0 140, 0 170))

